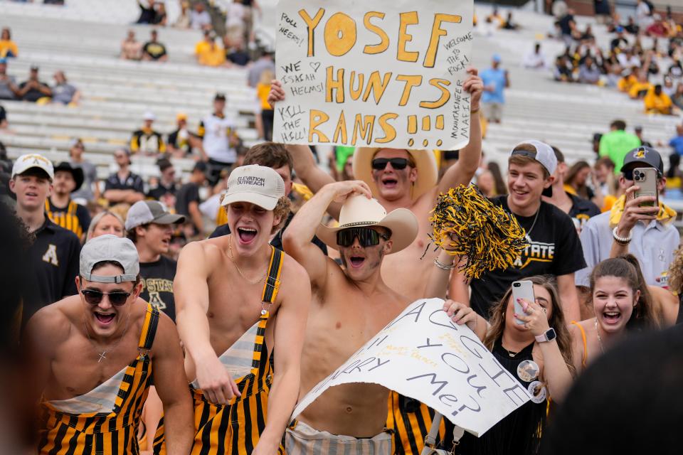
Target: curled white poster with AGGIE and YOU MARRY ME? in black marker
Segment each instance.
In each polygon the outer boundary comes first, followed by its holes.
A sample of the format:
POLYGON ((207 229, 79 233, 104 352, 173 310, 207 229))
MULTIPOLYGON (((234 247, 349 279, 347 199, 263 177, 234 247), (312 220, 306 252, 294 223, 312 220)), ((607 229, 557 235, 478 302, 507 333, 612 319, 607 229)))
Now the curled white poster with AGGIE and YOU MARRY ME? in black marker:
POLYGON ((335 385, 373 382, 437 410, 480 436, 531 399, 443 300, 418 300, 298 403, 292 419, 335 385))

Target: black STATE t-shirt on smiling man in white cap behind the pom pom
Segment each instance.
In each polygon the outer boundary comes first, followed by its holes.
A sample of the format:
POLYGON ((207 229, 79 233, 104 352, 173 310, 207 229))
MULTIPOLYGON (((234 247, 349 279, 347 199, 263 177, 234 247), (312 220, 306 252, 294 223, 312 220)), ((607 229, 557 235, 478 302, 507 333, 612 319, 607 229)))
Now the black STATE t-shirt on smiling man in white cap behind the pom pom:
MULTIPOLYGON (((492 202, 510 211, 507 196, 498 196, 492 202)), ((487 272, 480 278, 472 279, 470 306, 480 316, 489 318, 489 309, 514 281, 534 275, 549 274, 558 277, 586 267, 581 242, 569 215, 543 201, 537 215, 535 225, 536 215, 514 215, 527 232, 529 246, 521 252, 512 267, 487 272)))

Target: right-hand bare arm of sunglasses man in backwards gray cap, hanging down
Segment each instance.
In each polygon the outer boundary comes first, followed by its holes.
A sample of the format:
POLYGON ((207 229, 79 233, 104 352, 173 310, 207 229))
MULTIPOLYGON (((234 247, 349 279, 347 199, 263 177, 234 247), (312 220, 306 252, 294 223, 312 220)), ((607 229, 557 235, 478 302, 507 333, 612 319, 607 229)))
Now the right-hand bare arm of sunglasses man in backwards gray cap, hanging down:
MULTIPOLYGON (((187 388, 180 338, 171 319, 159 314, 152 346, 154 385, 164 406, 164 437, 169 455, 189 454, 194 439, 193 406, 187 388)), ((147 439, 154 438, 148 434, 147 439)))

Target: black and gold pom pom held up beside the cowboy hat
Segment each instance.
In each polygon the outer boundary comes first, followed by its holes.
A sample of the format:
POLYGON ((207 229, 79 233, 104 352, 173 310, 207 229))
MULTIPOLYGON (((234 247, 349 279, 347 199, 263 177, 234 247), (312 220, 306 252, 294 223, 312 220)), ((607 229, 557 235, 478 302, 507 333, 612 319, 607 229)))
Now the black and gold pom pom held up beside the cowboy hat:
POLYGON ((527 245, 526 232, 517 219, 474 185, 441 193, 429 220, 432 242, 450 255, 467 258, 460 267, 467 277, 507 269, 527 245))

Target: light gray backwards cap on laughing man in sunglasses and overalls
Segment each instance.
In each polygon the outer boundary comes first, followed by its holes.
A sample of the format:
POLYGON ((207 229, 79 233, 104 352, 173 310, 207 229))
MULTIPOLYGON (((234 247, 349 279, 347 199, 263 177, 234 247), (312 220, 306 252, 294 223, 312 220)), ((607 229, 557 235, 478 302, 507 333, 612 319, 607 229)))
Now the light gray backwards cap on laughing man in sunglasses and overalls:
POLYGON ((121 283, 134 282, 140 272, 137 249, 130 239, 116 235, 100 235, 85 242, 80 250, 80 276, 89 282, 121 283), (93 275, 92 268, 103 261, 118 262, 123 274, 115 276, 93 275))

